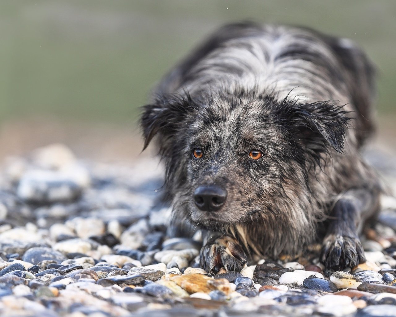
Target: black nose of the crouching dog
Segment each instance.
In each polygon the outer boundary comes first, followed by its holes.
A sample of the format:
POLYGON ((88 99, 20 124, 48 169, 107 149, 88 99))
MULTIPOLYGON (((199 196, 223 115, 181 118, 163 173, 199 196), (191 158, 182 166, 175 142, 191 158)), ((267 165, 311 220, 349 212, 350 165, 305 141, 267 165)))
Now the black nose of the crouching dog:
POLYGON ((219 186, 200 186, 194 191, 194 200, 200 210, 216 211, 223 206, 227 198, 227 191, 219 186))

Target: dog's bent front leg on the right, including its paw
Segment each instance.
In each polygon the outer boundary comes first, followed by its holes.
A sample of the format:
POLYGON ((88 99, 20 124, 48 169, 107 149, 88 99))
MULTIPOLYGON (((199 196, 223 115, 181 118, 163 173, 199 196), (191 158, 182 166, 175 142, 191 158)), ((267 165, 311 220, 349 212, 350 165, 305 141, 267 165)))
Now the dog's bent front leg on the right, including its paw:
POLYGON ((321 262, 324 273, 355 267, 365 262, 359 232, 367 219, 379 210, 379 189, 351 189, 335 202, 329 216, 321 262))

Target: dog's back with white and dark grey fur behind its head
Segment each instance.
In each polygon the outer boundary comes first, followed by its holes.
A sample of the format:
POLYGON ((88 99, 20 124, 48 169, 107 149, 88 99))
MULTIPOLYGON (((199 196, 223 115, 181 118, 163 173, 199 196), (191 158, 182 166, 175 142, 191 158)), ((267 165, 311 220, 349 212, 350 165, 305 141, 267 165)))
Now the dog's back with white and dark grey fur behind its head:
POLYGON ((357 143, 373 131, 374 70, 353 42, 285 25, 221 27, 158 84, 158 93, 258 91, 281 101, 337 100, 356 117, 357 143), (276 94, 275 94, 276 92, 276 94))

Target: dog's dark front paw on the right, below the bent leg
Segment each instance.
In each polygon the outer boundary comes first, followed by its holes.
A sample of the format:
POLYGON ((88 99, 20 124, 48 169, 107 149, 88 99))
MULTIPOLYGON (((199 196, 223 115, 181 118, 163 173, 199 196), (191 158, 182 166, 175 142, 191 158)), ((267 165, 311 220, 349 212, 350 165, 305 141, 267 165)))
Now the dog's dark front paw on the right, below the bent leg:
POLYGON ((320 260, 326 275, 366 261, 359 238, 342 235, 328 235, 324 239, 320 260))

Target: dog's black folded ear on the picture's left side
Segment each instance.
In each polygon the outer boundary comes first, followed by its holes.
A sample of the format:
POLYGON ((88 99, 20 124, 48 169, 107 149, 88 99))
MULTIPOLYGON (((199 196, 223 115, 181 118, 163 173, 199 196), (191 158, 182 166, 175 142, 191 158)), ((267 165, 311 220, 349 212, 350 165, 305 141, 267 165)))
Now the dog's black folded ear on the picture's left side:
POLYGON ((158 95, 153 103, 143 106, 140 120, 145 138, 143 150, 156 135, 160 138, 160 144, 164 144, 196 108, 189 95, 173 94, 158 95))

